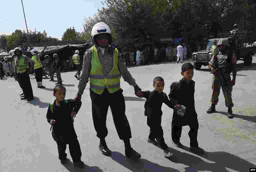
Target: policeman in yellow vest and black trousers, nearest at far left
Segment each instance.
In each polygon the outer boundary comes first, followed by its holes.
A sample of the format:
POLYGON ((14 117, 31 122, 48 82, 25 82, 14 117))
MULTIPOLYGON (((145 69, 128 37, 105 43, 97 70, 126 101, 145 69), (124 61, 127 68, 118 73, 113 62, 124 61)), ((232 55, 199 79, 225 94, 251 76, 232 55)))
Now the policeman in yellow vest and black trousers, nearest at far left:
POLYGON ((20 48, 14 49, 14 54, 17 56, 14 59, 14 68, 17 72, 17 80, 22 87, 24 98, 22 100, 27 99, 28 101, 34 100, 33 90, 30 82, 30 77, 28 74, 28 63, 31 63, 31 70, 34 70, 34 64, 35 62, 31 59, 29 59, 27 56, 22 55, 22 51, 20 48))

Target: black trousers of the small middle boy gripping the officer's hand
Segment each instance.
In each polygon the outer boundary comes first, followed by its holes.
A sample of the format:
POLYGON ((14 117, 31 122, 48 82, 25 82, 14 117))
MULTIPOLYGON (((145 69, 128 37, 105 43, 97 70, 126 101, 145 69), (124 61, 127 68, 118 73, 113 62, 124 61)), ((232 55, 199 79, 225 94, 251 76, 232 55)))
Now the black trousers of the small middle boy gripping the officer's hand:
POLYGON ((161 126, 162 115, 148 115, 147 116, 147 125, 150 127, 150 132, 148 138, 151 140, 155 140, 158 144, 165 150, 168 148, 164 141, 164 131, 161 126))

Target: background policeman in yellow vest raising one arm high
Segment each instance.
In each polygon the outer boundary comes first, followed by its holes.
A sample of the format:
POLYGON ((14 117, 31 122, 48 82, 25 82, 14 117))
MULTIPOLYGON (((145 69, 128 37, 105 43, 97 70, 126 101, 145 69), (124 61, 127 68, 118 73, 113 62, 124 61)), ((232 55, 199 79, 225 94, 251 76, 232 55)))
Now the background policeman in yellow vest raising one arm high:
POLYGON ((42 53, 45 51, 46 45, 44 47, 44 50, 41 53, 38 53, 35 49, 31 51, 32 60, 34 60, 35 65, 35 74, 36 74, 36 82, 37 82, 37 88, 45 88, 45 86, 42 85, 42 80, 43 80, 43 65, 40 61, 40 57, 42 56, 42 53))

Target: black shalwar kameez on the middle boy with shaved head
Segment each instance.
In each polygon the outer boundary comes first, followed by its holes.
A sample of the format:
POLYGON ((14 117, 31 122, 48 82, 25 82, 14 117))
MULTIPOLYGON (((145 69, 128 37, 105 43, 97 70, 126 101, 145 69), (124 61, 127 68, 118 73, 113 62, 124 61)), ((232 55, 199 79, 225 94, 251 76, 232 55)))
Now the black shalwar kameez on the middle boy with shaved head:
MULTIPOLYGON (((147 125, 150 127, 150 134, 148 138, 150 140, 157 140, 159 146, 164 150, 168 148, 164 141, 164 132, 161 126, 162 122, 162 105, 165 103, 169 108, 174 108, 174 105, 170 102, 167 95, 162 92, 158 93, 154 91, 142 91, 143 97, 147 99, 147 125)), ((146 114, 145 114, 146 115, 146 114)))

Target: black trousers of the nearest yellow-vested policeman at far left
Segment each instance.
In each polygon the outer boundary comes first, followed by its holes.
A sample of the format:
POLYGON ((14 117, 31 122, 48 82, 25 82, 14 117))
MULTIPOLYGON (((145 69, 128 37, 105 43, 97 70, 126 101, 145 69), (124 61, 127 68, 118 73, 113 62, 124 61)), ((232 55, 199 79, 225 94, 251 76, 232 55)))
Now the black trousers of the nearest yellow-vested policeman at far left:
POLYGON ((18 73, 18 82, 20 84, 20 87, 23 90, 23 93, 25 94, 26 98, 34 98, 33 90, 30 82, 30 77, 27 72, 24 72, 22 74, 18 73))

